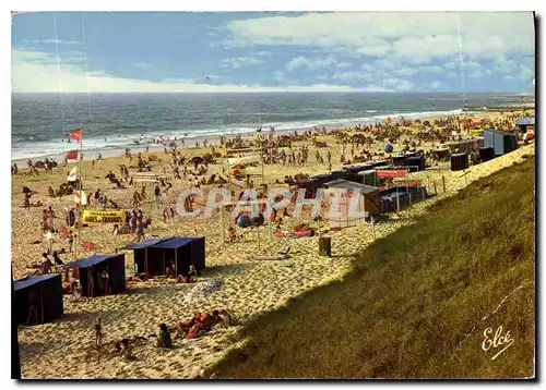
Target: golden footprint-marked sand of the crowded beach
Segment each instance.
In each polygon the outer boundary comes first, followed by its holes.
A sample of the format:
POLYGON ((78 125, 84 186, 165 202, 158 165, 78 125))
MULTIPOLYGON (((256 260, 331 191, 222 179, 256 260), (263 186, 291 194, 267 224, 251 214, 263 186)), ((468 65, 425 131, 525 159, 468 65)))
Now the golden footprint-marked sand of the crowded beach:
MULTIPOLYGON (((512 113, 509 113, 512 114, 512 113)), ((505 114, 507 115, 507 114, 505 114)), ((474 119, 488 118, 494 121, 503 119, 498 112, 479 113, 471 115, 474 119)), ((432 120, 432 119, 429 119, 432 120)), ((412 123, 407 127, 410 134, 417 132, 420 126, 412 123)), ((349 132, 349 134, 355 134, 349 132)), ((328 144, 327 148, 319 148, 320 154, 327 150, 332 155, 332 170, 343 168, 340 162, 341 146, 332 135, 320 135, 318 139, 328 144)), ((191 141, 194 142, 194 141, 191 141)), ((295 143, 293 147, 299 147, 295 143)), ((285 175, 308 173, 310 175, 329 171, 328 162, 318 163, 314 160, 316 148, 309 146, 309 160, 305 167, 286 167, 282 164, 266 164, 264 182, 274 183, 283 181, 285 175)), ((376 142, 368 150, 383 151, 384 142, 376 142)), ((431 145, 424 143, 422 148, 428 150, 431 145)), ((349 149, 348 146, 347 149, 349 149)), ((191 158, 210 153, 207 148, 185 148, 181 154, 191 158)), ((218 151, 221 151, 218 149, 218 151)), ((394 154, 401 151, 401 145, 394 144, 394 154)), ((413 219, 426 212, 431 204, 456 194, 459 190, 480 178, 522 161, 525 155, 535 154, 535 145, 531 143, 518 150, 498 157, 494 160, 472 166, 464 176, 462 172, 452 172, 449 164, 443 163, 426 171, 410 173, 408 179, 420 180, 427 191, 436 196, 425 202, 414 204, 411 208, 400 212, 399 218, 382 220, 373 228, 361 224, 358 227, 328 232, 332 237, 332 257, 319 256, 318 236, 313 237, 275 237, 274 227, 263 226, 252 231, 245 231, 245 239, 233 243, 222 241, 222 227, 217 216, 213 218, 176 218, 174 221, 162 220, 165 207, 173 207, 180 191, 187 187, 186 180, 170 180, 170 156, 162 150, 153 150, 161 162, 153 162, 153 172, 163 173, 169 178, 173 188, 162 194, 162 202, 149 202, 141 208, 153 220, 146 236, 198 236, 204 235, 206 240, 206 269, 197 284, 174 284, 165 279, 153 279, 138 282, 129 288, 128 292, 120 295, 84 298, 64 295, 64 316, 49 324, 19 328, 22 370, 24 378, 194 378, 205 367, 224 353, 236 348, 237 333, 245 322, 252 316, 274 310, 305 291, 325 284, 331 280, 341 279, 351 270, 352 259, 366 247, 387 234, 394 232, 403 226, 413 223, 413 219), (443 179, 442 179, 443 178, 443 179), (446 191, 443 191, 443 180, 446 191), (272 255, 290 247, 290 257, 284 260, 256 260, 257 255, 272 255), (199 285, 207 281, 222 280, 221 290, 206 296, 195 293, 199 285), (195 312, 213 310, 215 308, 230 309, 238 325, 227 329, 214 329, 210 333, 193 340, 176 340, 175 349, 165 351, 153 348, 152 340, 143 341, 133 348, 135 361, 126 362, 120 356, 102 356, 100 361, 94 349, 94 318, 100 315, 104 343, 110 343, 126 337, 149 336, 157 332, 158 325, 167 325, 191 317, 195 312)), ((145 154, 144 154, 145 155, 145 154)), ((133 158, 133 164, 134 164, 133 158)), ((210 164, 206 175, 222 174, 222 159, 218 163, 210 164)), ((109 199, 115 200, 120 207, 131 209, 130 200, 134 191, 140 191, 141 185, 133 186, 123 183, 127 190, 116 190, 105 175, 112 171, 119 175, 119 164, 129 166, 129 159, 123 156, 112 156, 97 161, 94 168, 90 160, 82 162, 82 182, 85 192, 95 192, 100 188, 109 199)), ((41 214, 51 206, 58 218, 56 228, 64 226, 64 207, 73 204, 72 196, 51 199, 48 197, 48 187, 57 188, 66 182, 69 167, 54 169, 52 173, 39 171, 38 175, 26 174, 26 169, 20 164, 20 173, 12 175, 12 268, 14 279, 24 277, 32 263, 40 259, 44 252, 43 244, 33 244, 43 240, 41 214), (40 200, 41 207, 32 207, 29 210, 23 206, 23 186, 28 186, 37 192, 32 202, 40 200)), ((130 170, 130 174, 135 172, 130 170)), ((261 167, 248 169, 256 184, 262 178, 261 167)), ((224 175, 223 175, 224 176, 224 175)), ((204 186, 207 187, 207 186, 204 186)), ((149 190, 149 198, 151 198, 149 190)), ((91 209, 98 205, 93 199, 91 209)), ((308 216, 301 218, 284 219, 283 229, 289 230, 300 222, 309 222, 308 216)), ((313 222, 311 222, 313 223, 313 222)), ((225 218, 223 230, 227 236, 227 228, 233 226, 233 220, 225 218)), ((323 228, 328 228, 323 226, 323 228)), ((78 248, 78 257, 87 257, 94 253, 112 253, 134 240, 131 234, 111 234, 111 226, 92 226, 82 229, 82 239, 95 243, 93 251, 78 248)), ((59 234, 54 237, 55 249, 68 247, 68 242, 59 234)), ((134 273, 132 252, 126 253, 126 275, 134 273)), ((61 255, 63 261, 71 260, 71 255, 61 255)))

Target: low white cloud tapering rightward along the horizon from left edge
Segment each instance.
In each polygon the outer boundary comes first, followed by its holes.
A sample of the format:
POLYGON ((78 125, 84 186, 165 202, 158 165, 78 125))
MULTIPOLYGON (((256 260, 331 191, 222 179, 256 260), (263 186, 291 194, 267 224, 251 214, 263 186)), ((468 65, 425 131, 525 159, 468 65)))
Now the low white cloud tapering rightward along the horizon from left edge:
POLYGON ((235 85, 200 84, 186 78, 162 82, 116 77, 100 71, 85 71, 78 65, 51 63, 52 54, 12 51, 12 93, 264 93, 264 92, 389 92, 381 86, 355 88, 348 85, 235 85))

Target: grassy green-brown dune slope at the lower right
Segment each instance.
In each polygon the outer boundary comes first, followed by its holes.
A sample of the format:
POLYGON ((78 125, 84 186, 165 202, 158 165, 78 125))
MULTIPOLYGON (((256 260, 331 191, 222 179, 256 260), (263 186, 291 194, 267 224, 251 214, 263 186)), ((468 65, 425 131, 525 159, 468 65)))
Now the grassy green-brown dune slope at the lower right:
POLYGON ((260 316, 246 346, 206 376, 532 377, 534 174, 532 157, 431 206, 356 258, 343 281, 260 316), (484 331, 499 326, 514 341, 491 359, 507 344, 484 351, 484 331))

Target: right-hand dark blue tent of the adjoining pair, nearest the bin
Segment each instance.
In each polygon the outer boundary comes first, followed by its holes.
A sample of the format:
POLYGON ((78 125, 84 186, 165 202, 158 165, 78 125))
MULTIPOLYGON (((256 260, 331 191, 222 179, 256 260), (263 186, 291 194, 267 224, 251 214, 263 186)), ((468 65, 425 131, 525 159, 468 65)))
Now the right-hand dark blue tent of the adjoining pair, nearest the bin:
POLYGON ((205 268, 204 236, 173 237, 153 245, 150 251, 154 253, 153 259, 159 264, 162 275, 166 275, 166 268, 170 266, 171 260, 175 264, 176 275, 187 276, 190 266, 195 268, 198 275, 205 268))

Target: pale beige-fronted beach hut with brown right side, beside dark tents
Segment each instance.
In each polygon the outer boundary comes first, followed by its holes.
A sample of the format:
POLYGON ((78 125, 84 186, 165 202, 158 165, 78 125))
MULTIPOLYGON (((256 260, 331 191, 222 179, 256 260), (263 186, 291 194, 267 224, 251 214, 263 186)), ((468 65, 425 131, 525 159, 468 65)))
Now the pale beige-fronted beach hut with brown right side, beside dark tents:
POLYGON ((358 196, 357 211, 365 211, 366 217, 380 214, 380 191, 378 187, 342 179, 328 182, 324 187, 331 190, 327 190, 324 193, 327 207, 330 207, 334 197, 337 198, 336 202, 340 205, 340 216, 329 218, 329 223, 332 227, 347 228, 364 222, 364 218, 349 215, 351 199, 355 193, 358 196))

